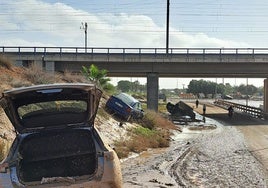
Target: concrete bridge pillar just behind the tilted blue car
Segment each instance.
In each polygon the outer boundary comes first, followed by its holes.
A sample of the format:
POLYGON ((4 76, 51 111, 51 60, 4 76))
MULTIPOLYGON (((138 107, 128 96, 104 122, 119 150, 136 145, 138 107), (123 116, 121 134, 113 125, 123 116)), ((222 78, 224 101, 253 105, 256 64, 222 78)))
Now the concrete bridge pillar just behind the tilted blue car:
POLYGON ((147 109, 158 111, 158 73, 147 73, 147 109))

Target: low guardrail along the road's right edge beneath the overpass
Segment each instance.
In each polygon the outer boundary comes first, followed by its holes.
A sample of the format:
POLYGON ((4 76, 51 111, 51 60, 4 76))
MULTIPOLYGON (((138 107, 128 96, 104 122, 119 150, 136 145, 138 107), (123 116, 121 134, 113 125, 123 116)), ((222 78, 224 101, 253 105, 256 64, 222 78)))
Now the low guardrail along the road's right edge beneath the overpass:
POLYGON ((224 109, 228 109, 230 106, 233 106, 234 110, 236 111, 241 111, 244 113, 247 113, 253 117, 256 118, 265 118, 266 114, 265 112, 261 109, 261 108, 256 108, 256 107, 252 107, 252 106, 247 106, 247 105, 242 105, 242 104, 237 104, 237 103, 233 103, 233 102, 229 102, 229 101, 225 101, 225 100, 216 100, 214 102, 215 105, 220 106, 224 109))

